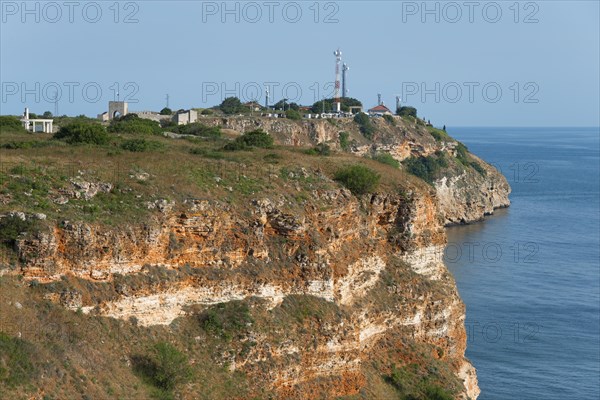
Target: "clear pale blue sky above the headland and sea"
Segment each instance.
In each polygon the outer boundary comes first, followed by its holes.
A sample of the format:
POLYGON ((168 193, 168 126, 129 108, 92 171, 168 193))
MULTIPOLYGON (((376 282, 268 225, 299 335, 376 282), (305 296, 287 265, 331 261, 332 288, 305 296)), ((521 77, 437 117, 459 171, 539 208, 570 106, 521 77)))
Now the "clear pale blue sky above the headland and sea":
POLYGON ((599 126, 599 1, 0 1, 0 114, 378 94, 436 126, 599 126), (118 95, 117 95, 118 93, 118 95), (58 101, 55 102, 55 96, 58 101))

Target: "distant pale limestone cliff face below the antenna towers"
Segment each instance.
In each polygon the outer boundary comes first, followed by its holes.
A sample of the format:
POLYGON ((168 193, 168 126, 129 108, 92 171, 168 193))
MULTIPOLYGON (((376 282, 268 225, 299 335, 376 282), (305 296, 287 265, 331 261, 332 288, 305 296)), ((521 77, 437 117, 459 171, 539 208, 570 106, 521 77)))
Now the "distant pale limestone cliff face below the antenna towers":
MULTIPOLYGON (((347 132, 352 138, 351 151, 359 156, 386 152, 398 161, 408 157, 427 157, 436 152, 455 154, 457 142, 436 141, 427 127, 394 117, 395 125, 383 118, 372 120, 376 133, 372 141, 366 140, 352 119, 303 119, 290 121, 277 118, 230 117, 205 118, 203 123, 221 126, 236 132, 263 129, 276 141, 289 146, 309 146, 318 143, 339 149, 339 134, 347 132)), ((481 175, 472 168, 448 169, 434 182, 444 224, 464 224, 493 214, 496 208, 508 207, 510 186, 506 178, 493 166, 472 155, 485 170, 481 175)))

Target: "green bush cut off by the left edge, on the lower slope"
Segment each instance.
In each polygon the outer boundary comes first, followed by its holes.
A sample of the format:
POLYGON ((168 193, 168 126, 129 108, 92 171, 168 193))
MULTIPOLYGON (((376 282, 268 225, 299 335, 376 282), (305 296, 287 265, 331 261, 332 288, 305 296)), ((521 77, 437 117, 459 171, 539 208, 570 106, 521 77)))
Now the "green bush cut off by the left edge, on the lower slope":
POLYGON ((31 362, 34 354, 29 343, 0 332, 0 386, 28 384, 37 373, 31 362))

